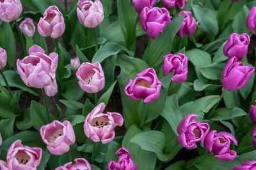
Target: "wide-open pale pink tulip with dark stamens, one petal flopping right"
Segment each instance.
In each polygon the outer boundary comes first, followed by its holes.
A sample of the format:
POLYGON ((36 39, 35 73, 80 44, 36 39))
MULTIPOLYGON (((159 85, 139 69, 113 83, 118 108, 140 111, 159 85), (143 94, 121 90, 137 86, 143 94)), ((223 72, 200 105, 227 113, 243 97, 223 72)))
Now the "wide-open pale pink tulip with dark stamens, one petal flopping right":
POLYGON ((113 129, 117 125, 122 126, 124 118, 120 113, 102 113, 104 109, 105 104, 100 103, 87 115, 84 121, 84 134, 94 142, 101 140, 103 144, 106 144, 115 138, 113 129))

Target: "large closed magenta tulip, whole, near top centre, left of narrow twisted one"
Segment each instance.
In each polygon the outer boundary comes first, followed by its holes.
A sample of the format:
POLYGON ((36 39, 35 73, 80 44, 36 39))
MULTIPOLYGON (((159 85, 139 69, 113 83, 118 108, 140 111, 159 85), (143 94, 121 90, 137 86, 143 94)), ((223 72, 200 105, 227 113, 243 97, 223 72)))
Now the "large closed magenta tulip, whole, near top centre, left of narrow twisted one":
POLYGON ((140 24, 148 36, 156 39, 164 31, 167 23, 171 23, 170 13, 165 8, 148 8, 145 6, 140 13, 140 24))

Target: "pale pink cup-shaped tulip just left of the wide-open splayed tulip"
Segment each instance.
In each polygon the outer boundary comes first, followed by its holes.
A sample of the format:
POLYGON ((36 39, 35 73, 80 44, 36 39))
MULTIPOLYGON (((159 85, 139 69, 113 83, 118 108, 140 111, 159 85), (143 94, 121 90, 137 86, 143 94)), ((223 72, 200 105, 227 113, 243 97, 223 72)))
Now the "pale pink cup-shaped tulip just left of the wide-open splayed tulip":
POLYGON ((51 124, 42 126, 40 134, 47 145, 47 149, 53 155, 68 152, 70 145, 73 145, 76 141, 74 129, 67 120, 63 123, 54 120, 51 124))

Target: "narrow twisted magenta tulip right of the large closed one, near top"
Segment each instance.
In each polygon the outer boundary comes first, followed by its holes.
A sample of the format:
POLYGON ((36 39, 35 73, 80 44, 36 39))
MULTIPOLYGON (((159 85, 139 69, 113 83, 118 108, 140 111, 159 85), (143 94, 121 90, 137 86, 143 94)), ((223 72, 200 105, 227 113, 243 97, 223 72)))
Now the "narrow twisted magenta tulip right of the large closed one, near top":
POLYGON ((194 17, 191 17, 191 12, 181 11, 179 16, 183 14, 185 14, 184 20, 180 26, 179 31, 177 32, 177 36, 180 38, 184 37, 184 35, 192 36, 196 31, 196 20, 194 17))

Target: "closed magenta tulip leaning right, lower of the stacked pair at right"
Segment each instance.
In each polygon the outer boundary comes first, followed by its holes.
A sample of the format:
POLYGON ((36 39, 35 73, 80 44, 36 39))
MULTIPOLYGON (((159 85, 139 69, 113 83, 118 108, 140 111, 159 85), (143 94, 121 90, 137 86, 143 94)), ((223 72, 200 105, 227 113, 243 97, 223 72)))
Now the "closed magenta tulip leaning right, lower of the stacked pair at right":
POLYGON ((237 58, 232 57, 228 60, 221 75, 224 89, 230 92, 241 89, 254 73, 254 69, 255 67, 244 66, 243 62, 237 62, 237 58))

